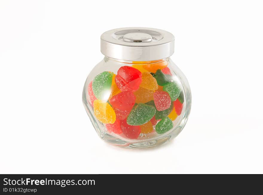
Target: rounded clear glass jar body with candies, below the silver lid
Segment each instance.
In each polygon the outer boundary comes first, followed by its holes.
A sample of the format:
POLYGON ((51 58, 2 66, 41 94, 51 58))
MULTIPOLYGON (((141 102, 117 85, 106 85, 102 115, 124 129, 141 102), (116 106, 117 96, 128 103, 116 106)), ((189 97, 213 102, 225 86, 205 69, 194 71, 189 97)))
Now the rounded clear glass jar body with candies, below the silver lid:
POLYGON ((166 143, 181 132, 191 91, 170 58, 139 62, 105 57, 88 75, 82 101, 103 140, 142 148, 166 143))

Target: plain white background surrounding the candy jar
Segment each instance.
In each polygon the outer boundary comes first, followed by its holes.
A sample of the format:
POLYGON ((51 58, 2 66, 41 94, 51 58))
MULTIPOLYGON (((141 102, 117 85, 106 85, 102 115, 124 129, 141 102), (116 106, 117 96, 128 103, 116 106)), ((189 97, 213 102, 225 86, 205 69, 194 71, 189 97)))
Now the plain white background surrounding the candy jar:
POLYGON ((262 1, 0 1, 0 173, 263 173, 262 1), (104 143, 82 105, 100 35, 153 27, 192 110, 169 143, 104 143))

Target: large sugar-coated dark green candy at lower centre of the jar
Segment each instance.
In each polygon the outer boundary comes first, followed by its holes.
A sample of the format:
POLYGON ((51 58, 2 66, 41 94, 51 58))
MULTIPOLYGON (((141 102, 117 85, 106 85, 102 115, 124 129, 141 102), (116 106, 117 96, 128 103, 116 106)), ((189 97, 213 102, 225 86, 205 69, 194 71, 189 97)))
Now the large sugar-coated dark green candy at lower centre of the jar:
POLYGON ((128 125, 143 125, 155 115, 156 109, 143 103, 135 106, 127 117, 128 125))

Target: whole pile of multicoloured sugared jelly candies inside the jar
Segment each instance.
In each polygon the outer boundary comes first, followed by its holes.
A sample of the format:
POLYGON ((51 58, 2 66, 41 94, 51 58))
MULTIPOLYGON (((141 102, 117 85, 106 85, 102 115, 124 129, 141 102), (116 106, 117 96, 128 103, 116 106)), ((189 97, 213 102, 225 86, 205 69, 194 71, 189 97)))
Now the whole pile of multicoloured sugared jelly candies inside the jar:
POLYGON ((140 134, 172 129, 184 95, 167 64, 165 60, 133 62, 121 66, 117 75, 101 72, 89 83, 94 115, 108 132, 137 139, 140 134))

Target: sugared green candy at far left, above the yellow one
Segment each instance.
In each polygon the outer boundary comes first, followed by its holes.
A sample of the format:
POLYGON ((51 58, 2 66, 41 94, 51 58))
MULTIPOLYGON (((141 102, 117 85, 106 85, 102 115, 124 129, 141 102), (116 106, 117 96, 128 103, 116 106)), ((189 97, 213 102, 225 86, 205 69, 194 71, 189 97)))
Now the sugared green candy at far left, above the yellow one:
POLYGON ((110 96, 112 75, 113 75, 112 72, 104 71, 94 78, 92 82, 92 89, 95 96, 99 100, 107 101, 108 97, 110 96))

